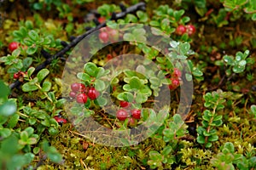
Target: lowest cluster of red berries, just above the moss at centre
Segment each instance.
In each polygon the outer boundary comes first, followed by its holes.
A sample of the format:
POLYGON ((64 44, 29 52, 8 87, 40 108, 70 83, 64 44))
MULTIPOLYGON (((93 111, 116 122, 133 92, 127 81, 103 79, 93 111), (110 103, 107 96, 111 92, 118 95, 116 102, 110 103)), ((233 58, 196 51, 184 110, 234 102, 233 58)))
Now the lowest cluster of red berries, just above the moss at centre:
POLYGON ((139 120, 141 118, 141 110, 130 110, 129 107, 131 106, 131 104, 127 101, 120 101, 119 105, 120 107, 122 107, 122 109, 119 109, 119 111, 116 112, 116 117, 119 119, 119 121, 125 121, 125 119, 128 118, 129 125, 135 125, 135 120, 139 120), (128 109, 131 112, 131 117, 129 117, 128 109))

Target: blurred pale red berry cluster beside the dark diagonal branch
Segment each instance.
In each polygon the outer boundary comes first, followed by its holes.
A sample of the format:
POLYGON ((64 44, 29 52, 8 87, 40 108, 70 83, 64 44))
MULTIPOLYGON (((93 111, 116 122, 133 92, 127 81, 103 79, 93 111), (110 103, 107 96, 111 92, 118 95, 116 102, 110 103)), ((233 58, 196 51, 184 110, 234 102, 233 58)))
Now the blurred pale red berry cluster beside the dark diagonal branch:
POLYGON ((119 39, 119 31, 111 29, 109 27, 102 28, 100 30, 99 39, 101 42, 115 42, 119 39))

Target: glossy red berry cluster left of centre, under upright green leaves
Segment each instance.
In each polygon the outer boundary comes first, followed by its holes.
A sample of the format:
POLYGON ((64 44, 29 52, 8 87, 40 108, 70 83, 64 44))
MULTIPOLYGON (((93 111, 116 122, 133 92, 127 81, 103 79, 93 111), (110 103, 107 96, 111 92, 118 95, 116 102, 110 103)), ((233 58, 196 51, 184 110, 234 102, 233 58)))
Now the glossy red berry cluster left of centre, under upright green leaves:
POLYGON ((72 91, 69 93, 71 98, 75 98, 79 104, 85 104, 87 98, 97 99, 100 93, 94 87, 85 87, 83 83, 74 82, 71 84, 72 91))

